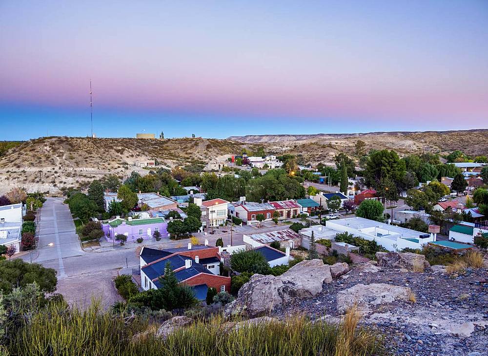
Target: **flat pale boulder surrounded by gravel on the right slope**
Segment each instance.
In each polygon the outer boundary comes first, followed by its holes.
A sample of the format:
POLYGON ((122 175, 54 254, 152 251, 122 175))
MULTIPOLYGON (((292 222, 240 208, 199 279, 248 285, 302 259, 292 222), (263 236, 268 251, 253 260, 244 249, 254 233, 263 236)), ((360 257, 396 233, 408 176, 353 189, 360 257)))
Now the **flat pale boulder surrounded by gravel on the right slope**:
POLYGON ((368 313, 372 306, 391 303, 396 299, 408 300, 411 293, 408 287, 385 283, 356 284, 337 293, 337 311, 345 313, 347 309, 356 304, 359 311, 368 313))

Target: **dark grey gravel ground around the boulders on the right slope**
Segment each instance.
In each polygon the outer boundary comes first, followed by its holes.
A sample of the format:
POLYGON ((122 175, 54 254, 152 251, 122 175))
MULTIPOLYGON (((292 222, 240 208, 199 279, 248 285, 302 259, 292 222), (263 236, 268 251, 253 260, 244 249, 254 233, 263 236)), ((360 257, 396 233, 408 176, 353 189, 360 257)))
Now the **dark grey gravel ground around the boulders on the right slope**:
MULTIPOLYGON (((397 300, 372 308, 363 317, 363 325, 377 328, 385 335, 391 355, 480 356, 488 355, 488 272, 470 270, 464 275, 448 276, 429 270, 423 273, 382 269, 361 272, 353 269, 342 278, 324 284, 317 297, 295 300, 283 314, 305 313, 311 319, 340 320, 337 292, 358 283, 386 283, 411 288, 416 302, 397 300), (469 336, 459 336, 456 328, 463 323, 481 321, 469 336), (486 323, 486 324, 485 324, 486 323)), ((469 334, 469 331, 468 331, 469 334)))

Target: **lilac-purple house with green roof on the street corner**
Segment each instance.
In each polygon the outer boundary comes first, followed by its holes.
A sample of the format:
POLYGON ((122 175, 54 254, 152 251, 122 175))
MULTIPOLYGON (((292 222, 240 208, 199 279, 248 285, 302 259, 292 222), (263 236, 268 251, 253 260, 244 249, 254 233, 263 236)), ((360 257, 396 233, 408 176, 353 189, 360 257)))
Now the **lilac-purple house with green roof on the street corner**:
POLYGON ((148 219, 121 219, 119 216, 107 224, 102 224, 107 241, 113 242, 118 234, 127 236, 127 241, 152 238, 154 231, 159 231, 161 237, 168 237, 168 223, 162 217, 148 219))

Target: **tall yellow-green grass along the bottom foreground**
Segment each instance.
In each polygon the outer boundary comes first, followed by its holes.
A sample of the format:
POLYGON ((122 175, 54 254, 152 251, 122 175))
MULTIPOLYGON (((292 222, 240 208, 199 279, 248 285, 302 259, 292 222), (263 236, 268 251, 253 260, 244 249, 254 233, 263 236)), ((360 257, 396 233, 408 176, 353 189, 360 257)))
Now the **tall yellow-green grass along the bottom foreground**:
POLYGON ((383 355, 381 336, 357 327, 354 311, 340 325, 311 323, 294 316, 285 321, 233 328, 216 316, 196 321, 165 340, 156 338, 157 326, 137 317, 124 319, 102 313, 99 303, 85 311, 55 303, 24 319, 6 345, 10 355, 185 355, 185 356, 367 356, 383 355), (147 334, 134 338, 137 333, 147 334))

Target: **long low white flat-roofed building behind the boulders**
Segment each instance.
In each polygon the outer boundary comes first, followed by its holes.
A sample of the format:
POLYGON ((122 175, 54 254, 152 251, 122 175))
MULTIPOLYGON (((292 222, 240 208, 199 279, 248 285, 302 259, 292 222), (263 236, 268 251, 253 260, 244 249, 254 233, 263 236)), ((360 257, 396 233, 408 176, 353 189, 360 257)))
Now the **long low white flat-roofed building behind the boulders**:
POLYGON ((369 241, 376 241, 388 251, 405 248, 421 249, 435 239, 433 234, 388 225, 361 217, 327 220, 326 228, 336 232, 349 232, 369 241))

